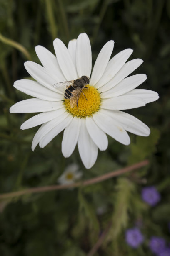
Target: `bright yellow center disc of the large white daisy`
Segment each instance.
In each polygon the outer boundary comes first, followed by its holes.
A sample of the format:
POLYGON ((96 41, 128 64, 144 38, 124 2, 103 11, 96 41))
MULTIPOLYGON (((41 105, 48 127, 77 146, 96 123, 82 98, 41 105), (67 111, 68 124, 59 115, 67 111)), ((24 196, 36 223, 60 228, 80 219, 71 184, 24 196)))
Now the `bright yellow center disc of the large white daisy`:
POLYGON ((90 116, 100 108, 100 93, 97 92, 93 86, 89 84, 86 86, 88 89, 83 89, 80 98, 78 100, 78 109, 77 105, 75 104, 74 108, 70 106, 70 99, 65 99, 65 108, 69 113, 77 117, 86 117, 90 116), (86 97, 86 98, 85 98, 86 97), (86 100, 87 99, 87 100, 86 100))

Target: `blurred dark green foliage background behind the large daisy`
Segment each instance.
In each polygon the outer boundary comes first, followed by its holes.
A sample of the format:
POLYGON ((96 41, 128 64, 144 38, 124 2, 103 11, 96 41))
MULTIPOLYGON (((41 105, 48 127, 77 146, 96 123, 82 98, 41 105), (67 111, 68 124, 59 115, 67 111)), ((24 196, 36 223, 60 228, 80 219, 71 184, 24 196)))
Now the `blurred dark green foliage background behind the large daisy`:
POLYGON ((0 201, 0 255, 85 256, 110 221, 107 239, 95 256, 151 256, 151 236, 170 242, 169 31, 170 0, 0 0, 0 192, 56 184, 72 162, 88 179, 150 160, 149 166, 117 179, 0 201), (140 88, 160 94, 157 102, 127 111, 152 127, 150 136, 130 135, 130 146, 109 138, 107 151, 99 152, 90 170, 83 167, 77 148, 69 159, 62 156, 62 133, 33 153, 37 128, 20 131, 32 114, 9 113, 13 103, 29 97, 15 90, 13 82, 30 78, 23 66, 28 58, 40 63, 34 47, 40 44, 54 52, 54 38, 67 44, 81 32, 90 36, 93 64, 110 39, 115 40, 114 55, 134 49, 132 58, 144 60, 134 74, 148 76, 140 88), (162 195, 154 208, 140 197, 147 185, 155 185, 162 195), (125 229, 137 223, 145 243, 134 250, 125 243, 125 229))

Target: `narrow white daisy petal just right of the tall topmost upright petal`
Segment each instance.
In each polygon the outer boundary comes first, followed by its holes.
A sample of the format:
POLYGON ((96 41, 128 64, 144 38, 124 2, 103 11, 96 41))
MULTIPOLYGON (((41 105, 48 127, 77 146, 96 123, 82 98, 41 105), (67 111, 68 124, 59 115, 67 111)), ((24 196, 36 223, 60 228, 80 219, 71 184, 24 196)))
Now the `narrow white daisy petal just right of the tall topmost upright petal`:
POLYGON ((102 47, 95 61, 94 68, 92 70, 90 85, 95 85, 102 77, 108 64, 108 61, 110 59, 110 56, 112 54, 113 46, 114 41, 110 40, 102 47))

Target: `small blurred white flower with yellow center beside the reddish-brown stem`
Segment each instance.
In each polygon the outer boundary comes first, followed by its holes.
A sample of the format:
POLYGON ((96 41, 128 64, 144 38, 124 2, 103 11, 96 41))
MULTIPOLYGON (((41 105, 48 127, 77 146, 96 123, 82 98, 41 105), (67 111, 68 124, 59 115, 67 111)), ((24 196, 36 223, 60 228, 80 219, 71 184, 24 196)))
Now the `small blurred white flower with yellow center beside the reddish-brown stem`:
POLYGON ((58 182, 60 184, 72 184, 81 177, 82 172, 79 170, 79 166, 77 164, 70 164, 58 178, 58 182))

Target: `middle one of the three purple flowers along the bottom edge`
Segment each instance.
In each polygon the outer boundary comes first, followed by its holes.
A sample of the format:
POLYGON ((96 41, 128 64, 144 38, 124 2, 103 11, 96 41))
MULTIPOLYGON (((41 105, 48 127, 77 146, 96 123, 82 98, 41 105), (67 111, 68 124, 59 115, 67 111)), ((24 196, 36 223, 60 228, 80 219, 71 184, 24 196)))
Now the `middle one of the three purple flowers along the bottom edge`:
POLYGON ((165 239, 163 237, 153 236, 150 239, 149 247, 153 253, 160 255, 159 253, 165 250, 165 239))

